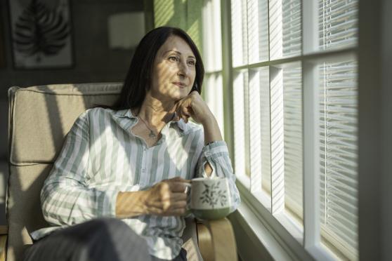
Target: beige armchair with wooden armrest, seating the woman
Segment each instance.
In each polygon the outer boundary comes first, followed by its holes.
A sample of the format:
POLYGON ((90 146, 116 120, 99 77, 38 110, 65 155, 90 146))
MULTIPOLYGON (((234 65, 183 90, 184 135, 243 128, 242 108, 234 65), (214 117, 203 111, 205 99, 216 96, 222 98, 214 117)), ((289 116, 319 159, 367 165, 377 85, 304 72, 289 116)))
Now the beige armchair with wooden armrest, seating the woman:
MULTIPOLYGON (((84 83, 8 90, 8 226, 0 227, 0 261, 22 260, 25 246, 32 243, 29 233, 48 226, 39 194, 74 120, 89 107, 110 105, 121 87, 121 83, 84 83)), ((206 261, 237 260, 227 219, 188 219, 183 239, 185 249, 193 246, 192 260, 200 260, 200 253, 206 261)))

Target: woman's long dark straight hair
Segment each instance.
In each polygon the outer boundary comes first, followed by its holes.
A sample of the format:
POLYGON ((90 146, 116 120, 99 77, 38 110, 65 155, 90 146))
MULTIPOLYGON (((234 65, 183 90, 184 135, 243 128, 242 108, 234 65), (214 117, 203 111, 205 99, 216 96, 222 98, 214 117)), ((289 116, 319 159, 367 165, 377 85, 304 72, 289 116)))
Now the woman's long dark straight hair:
POLYGON ((196 58, 196 76, 191 91, 202 92, 204 66, 195 43, 182 29, 176 27, 158 27, 145 34, 138 44, 133 54, 129 71, 126 74, 119 99, 111 106, 112 109, 133 109, 141 107, 146 93, 151 88, 152 66, 155 56, 169 36, 181 37, 192 49, 196 58))

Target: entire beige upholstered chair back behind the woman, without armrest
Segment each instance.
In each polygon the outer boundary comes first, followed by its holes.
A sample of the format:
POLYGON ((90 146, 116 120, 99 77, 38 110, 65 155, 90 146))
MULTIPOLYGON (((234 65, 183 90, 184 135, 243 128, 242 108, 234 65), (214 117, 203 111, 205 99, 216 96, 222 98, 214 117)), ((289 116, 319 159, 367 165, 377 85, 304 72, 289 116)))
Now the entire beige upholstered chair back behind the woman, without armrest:
POLYGON ((7 260, 22 260, 29 233, 48 227, 39 194, 65 135, 95 105, 112 105, 122 83, 12 87, 8 90, 7 260))

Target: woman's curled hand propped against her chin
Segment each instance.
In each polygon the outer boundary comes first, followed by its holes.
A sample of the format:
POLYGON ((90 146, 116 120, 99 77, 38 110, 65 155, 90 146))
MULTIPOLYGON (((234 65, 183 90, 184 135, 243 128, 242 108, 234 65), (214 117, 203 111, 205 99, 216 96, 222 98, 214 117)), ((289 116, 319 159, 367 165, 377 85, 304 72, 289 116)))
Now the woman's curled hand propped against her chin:
POLYGON ((214 114, 211 113, 207 103, 204 102, 202 97, 197 91, 192 91, 185 98, 178 100, 174 107, 177 121, 183 119, 185 123, 188 123, 189 117, 192 117, 198 123, 207 123, 208 121, 214 121, 214 114))

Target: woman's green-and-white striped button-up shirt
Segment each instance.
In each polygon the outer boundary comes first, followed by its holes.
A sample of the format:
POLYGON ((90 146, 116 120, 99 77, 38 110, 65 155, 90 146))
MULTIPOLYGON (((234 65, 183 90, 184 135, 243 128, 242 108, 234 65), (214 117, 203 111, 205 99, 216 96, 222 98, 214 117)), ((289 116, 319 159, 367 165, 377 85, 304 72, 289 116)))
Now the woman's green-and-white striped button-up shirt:
MULTIPOLYGON (((33 239, 96 217, 115 217, 119 192, 174 177, 207 176, 207 162, 212 176, 229 178, 232 211, 237 208, 240 196, 225 142, 204 146, 202 126, 180 120, 167 123, 162 138, 148 147, 131 131, 137 122, 130 109, 94 108, 79 116, 41 190, 42 212, 53 227, 32 232, 33 239)), ((143 236, 151 255, 172 259, 180 252, 184 217, 139 215, 123 221, 143 236)))

